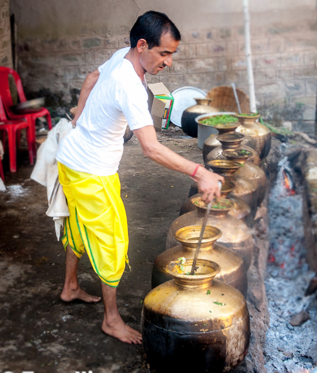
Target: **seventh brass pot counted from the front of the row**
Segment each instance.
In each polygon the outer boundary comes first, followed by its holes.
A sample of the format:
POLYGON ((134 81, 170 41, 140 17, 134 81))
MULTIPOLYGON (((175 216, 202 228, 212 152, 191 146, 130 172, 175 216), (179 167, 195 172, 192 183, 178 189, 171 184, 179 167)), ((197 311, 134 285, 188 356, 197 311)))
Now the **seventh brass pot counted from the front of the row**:
POLYGON ((207 154, 205 167, 209 169, 208 162, 214 159, 226 159, 226 157, 223 155, 223 151, 227 149, 243 150, 245 152, 251 153, 251 155, 247 158, 247 162, 254 163, 256 166, 259 166, 260 158, 256 151, 249 146, 242 145, 244 137, 244 135, 237 132, 225 133, 217 136, 217 139, 221 143, 221 145, 207 154))

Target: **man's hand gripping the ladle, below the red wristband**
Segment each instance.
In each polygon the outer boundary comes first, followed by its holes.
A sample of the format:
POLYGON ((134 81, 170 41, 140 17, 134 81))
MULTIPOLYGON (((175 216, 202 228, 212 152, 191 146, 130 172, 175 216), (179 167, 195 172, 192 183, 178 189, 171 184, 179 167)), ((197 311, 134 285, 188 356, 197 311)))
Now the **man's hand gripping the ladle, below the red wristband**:
POLYGON ((218 174, 206 170, 203 166, 198 167, 195 180, 198 184, 199 193, 203 193, 202 199, 209 203, 213 200, 214 195, 221 197, 218 182, 224 182, 224 178, 218 174))

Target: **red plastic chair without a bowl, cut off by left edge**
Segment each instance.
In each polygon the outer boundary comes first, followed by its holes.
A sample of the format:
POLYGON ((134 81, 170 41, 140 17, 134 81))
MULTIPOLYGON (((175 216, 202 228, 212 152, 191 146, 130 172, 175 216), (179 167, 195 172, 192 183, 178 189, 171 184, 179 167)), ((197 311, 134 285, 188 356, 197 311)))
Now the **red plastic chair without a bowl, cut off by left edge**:
MULTIPOLYGON (((5 145, 5 133, 8 137, 9 146, 9 162, 10 171, 16 171, 16 132, 26 128, 26 138, 29 150, 30 163, 33 165, 33 149, 32 149, 32 127, 29 121, 12 120, 8 121, 5 116, 4 108, 0 97, 0 130, 3 130, 3 149, 5 145)), ((1 165, 2 169, 2 165, 1 165)), ((1 171, 0 171, 1 172, 1 171)), ((4 180, 3 171, 1 174, 2 180, 4 180)))

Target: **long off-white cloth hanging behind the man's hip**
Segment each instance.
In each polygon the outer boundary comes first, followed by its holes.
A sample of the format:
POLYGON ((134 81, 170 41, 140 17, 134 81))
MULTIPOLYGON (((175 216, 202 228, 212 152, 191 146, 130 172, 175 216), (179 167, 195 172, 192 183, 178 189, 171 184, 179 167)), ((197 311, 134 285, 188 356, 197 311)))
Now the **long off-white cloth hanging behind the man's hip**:
POLYGON ((47 187, 48 209, 46 215, 55 222, 56 237, 59 240, 64 218, 70 216, 63 186, 58 181, 58 167, 55 160, 59 144, 66 134, 73 129, 67 119, 61 119, 47 135, 47 139, 37 151, 36 164, 31 174, 31 179, 47 187))

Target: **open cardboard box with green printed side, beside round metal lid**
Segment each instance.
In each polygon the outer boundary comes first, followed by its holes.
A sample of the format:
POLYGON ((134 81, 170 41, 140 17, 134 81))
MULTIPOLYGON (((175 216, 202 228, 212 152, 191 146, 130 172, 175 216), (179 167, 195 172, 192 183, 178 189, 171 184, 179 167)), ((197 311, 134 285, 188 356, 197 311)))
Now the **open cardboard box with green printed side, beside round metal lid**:
POLYGON ((163 83, 148 84, 149 110, 155 129, 168 128, 174 99, 163 83))

